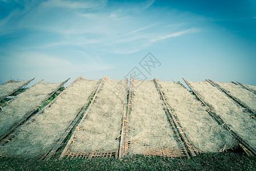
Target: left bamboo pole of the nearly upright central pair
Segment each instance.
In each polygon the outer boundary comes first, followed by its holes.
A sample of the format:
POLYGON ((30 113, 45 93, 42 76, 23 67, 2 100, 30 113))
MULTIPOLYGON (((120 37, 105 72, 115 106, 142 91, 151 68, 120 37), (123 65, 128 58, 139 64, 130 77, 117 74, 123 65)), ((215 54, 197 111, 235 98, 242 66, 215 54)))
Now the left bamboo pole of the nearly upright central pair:
POLYGON ((127 96, 128 96, 128 79, 126 79, 126 94, 125 94, 125 99, 124 99, 124 111, 123 111, 123 119, 121 120, 122 122, 122 128, 121 128, 121 137, 120 137, 120 145, 119 145, 119 158, 124 157, 124 136, 125 136, 125 122, 127 118, 127 96))

